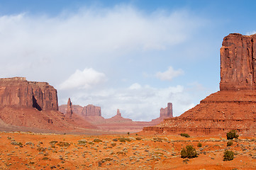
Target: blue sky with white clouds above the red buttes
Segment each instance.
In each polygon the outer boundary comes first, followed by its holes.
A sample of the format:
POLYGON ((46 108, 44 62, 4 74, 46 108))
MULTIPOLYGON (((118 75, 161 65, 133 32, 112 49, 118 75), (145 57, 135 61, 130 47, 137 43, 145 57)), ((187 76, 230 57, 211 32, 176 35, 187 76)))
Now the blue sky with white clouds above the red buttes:
POLYGON ((0 0, 0 77, 47 81, 59 105, 104 118, 181 115, 219 90, 229 33, 256 33, 256 1, 0 0))

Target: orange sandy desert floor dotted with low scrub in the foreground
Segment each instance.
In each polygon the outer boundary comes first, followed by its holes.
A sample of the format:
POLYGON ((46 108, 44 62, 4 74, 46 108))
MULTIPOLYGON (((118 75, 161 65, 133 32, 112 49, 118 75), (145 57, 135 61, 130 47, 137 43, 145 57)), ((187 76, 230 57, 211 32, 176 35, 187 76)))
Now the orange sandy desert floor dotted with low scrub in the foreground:
POLYGON ((0 169, 256 169, 256 139, 0 132, 0 169), (123 141, 123 142, 122 142, 123 141), (201 147, 197 147, 201 142, 201 147), (182 147, 199 156, 182 159, 182 147), (223 161, 223 152, 235 159, 223 161))

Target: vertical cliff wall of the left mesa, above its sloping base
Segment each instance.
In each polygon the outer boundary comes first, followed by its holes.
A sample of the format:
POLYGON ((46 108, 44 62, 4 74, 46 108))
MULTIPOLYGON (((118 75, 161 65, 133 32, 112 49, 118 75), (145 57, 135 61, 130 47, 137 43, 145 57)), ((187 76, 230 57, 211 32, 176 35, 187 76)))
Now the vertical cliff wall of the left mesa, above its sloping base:
POLYGON ((46 82, 27 81, 25 77, 0 79, 0 107, 6 106, 57 111, 57 90, 46 82))

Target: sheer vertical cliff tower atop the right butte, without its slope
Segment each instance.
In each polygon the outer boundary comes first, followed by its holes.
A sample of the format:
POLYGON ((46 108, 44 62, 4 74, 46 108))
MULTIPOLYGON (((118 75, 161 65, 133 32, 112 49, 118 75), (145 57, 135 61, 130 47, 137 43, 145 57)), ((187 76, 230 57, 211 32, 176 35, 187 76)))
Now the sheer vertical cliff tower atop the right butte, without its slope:
POLYGON ((256 89, 256 35, 233 33, 221 47, 220 89, 227 91, 256 89))

